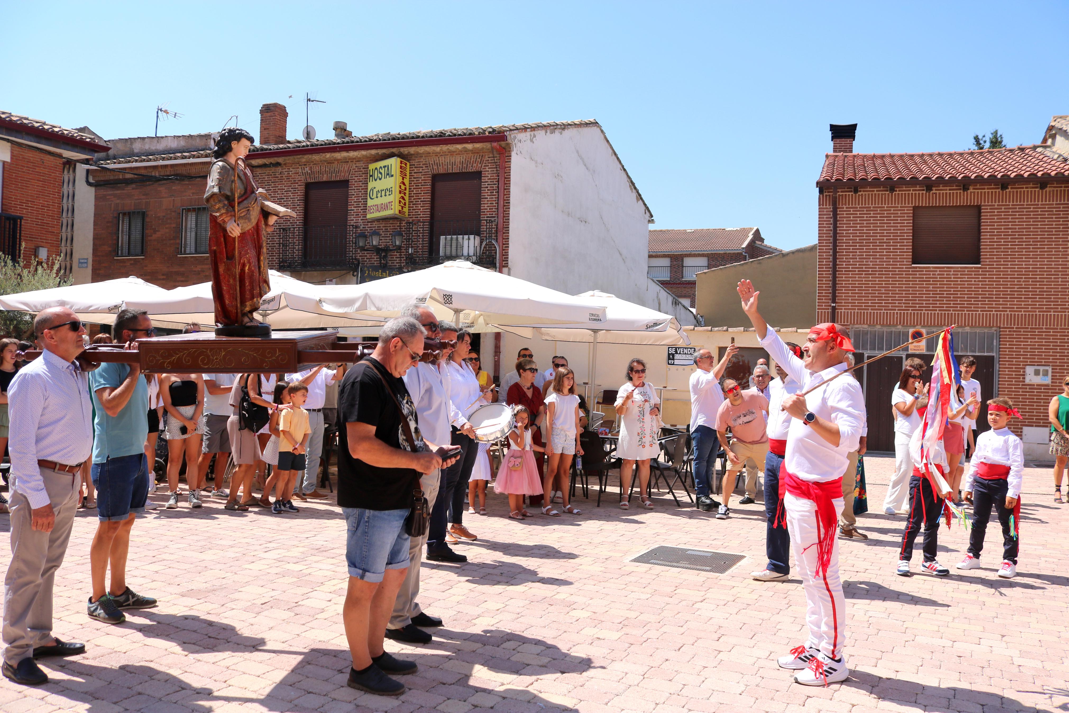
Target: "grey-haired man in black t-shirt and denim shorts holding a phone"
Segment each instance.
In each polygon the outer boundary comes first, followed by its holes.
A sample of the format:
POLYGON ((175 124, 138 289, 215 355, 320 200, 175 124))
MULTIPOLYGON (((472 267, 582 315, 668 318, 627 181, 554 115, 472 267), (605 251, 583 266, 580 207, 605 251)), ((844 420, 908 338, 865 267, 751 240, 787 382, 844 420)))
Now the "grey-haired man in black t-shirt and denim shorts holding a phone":
POLYGON ((387 673, 416 671, 383 649, 386 623, 408 569, 404 530, 420 474, 449 465, 423 439, 416 407, 401 377, 423 353, 423 328, 412 317, 383 325, 368 359, 350 370, 338 390, 338 505, 347 524, 348 591, 342 618, 353 655, 348 685, 400 696, 387 673), (403 412, 403 414, 402 414, 403 412))

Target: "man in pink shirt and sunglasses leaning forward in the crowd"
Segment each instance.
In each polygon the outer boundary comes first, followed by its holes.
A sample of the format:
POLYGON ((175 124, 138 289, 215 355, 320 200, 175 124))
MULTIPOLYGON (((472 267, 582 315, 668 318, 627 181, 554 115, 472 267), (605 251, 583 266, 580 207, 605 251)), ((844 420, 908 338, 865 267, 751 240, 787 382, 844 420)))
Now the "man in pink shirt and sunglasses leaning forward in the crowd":
MULTIPOLYGON (((727 400, 716 410, 716 435, 721 439, 724 452, 728 455, 728 471, 724 474, 722 481, 724 505, 716 510, 716 518, 727 520, 731 512, 728 509, 728 501, 731 499, 731 491, 734 490, 739 471, 749 459, 755 463, 764 463, 764 456, 769 454, 769 434, 764 430, 769 400, 759 391, 743 391, 733 378, 725 377, 721 382, 721 389, 727 400), (730 446, 727 433, 729 428, 730 446)), ((757 468, 753 468, 746 478, 746 497, 740 502, 753 502, 756 495, 757 468)))

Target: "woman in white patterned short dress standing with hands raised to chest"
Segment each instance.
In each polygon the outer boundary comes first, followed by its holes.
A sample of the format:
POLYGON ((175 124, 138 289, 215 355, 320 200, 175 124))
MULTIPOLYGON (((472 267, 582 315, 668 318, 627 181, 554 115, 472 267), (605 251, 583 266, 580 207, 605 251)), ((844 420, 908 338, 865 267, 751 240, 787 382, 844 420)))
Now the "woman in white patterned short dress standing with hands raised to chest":
POLYGON ((661 400, 653 387, 646 383, 646 362, 632 359, 628 362, 628 383, 616 394, 616 413, 620 416, 620 441, 616 454, 620 466, 620 509, 631 505, 631 470, 638 466, 638 497, 642 507, 652 508, 649 497, 650 459, 661 452, 657 436, 661 434, 661 400))

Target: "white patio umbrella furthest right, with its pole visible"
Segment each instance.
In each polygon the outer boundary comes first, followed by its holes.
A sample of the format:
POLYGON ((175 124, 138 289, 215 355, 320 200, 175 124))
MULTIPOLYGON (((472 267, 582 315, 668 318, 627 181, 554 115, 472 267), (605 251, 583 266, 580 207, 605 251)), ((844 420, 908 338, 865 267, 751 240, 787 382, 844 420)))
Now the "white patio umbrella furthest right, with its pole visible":
MULTIPOLYGON (((690 344, 691 339, 683 331, 679 321, 670 314, 657 312, 648 307, 629 303, 616 295, 599 290, 591 290, 575 296, 576 299, 589 300, 591 305, 605 305, 605 322, 591 325, 583 322, 573 324, 528 325, 534 335, 555 342, 588 342, 590 352, 590 394, 598 393, 598 344, 664 344, 676 346, 690 344)), ((511 325, 510 325, 511 326, 511 325)), ((522 334, 520 329, 509 331, 522 334)))

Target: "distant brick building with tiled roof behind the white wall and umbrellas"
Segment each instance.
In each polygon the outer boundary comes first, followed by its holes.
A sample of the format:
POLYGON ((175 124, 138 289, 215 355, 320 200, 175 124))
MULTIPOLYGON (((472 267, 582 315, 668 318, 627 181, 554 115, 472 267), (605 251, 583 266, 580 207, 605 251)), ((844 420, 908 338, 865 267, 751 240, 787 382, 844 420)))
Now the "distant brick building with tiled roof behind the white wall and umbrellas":
POLYGON ((765 245, 757 228, 651 230, 649 277, 687 307, 697 307, 698 273, 777 252, 781 250, 765 245))

